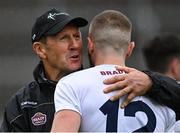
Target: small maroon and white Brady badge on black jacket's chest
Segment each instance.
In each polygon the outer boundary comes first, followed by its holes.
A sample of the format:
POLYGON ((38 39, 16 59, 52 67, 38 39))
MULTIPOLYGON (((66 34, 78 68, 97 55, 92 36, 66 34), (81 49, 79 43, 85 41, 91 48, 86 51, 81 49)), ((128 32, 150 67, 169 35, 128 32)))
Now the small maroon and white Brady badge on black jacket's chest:
POLYGON ((37 112, 33 117, 31 117, 31 121, 35 126, 43 125, 46 123, 46 115, 41 112, 37 112))

